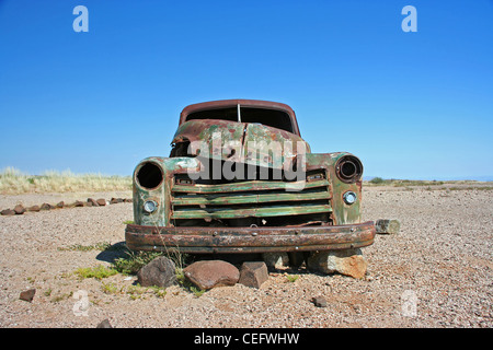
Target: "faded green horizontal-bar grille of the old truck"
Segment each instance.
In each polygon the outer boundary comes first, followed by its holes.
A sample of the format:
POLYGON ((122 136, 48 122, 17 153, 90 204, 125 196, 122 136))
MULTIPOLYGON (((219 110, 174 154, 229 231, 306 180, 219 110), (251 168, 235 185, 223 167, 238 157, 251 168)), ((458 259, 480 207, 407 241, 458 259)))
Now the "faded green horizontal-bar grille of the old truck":
POLYGON ((180 175, 172 184, 170 201, 172 220, 204 219, 210 222, 299 215, 302 222, 313 220, 313 214, 326 217, 332 212, 331 187, 325 173, 303 182, 245 180, 223 184, 195 184, 180 175))

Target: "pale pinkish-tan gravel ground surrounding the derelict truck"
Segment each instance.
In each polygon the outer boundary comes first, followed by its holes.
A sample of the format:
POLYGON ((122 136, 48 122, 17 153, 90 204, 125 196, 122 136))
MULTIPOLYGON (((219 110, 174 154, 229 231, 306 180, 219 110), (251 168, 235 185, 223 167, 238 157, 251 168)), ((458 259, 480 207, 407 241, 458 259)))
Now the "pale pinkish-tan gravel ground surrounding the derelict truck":
MULTIPOLYGON (((92 197, 107 197, 100 195, 92 197)), ((0 208, 49 197, 2 196, 0 208)), ((363 249, 364 279, 301 269, 271 273, 260 289, 237 284, 196 296, 176 285, 163 298, 123 292, 136 278, 71 275, 111 265, 100 250, 62 248, 123 242, 130 203, 0 217, 0 326, 95 327, 108 319, 113 327, 492 327, 492 209, 490 190, 367 187, 364 219, 399 219, 401 232, 363 249), (105 293, 105 285, 115 291, 105 293), (31 288, 33 302, 20 300, 31 288), (87 315, 76 315, 83 293, 87 315), (311 302, 319 295, 326 307, 311 302)))

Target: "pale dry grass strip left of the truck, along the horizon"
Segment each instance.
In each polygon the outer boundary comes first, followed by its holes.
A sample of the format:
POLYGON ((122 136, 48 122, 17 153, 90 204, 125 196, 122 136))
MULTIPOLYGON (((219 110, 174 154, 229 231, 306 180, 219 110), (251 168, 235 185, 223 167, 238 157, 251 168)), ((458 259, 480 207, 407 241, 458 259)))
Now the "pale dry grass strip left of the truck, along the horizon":
POLYGON ((130 189, 130 176, 73 174, 70 171, 47 171, 42 175, 28 175, 13 167, 7 167, 0 173, 0 194, 2 195, 100 192, 130 189))

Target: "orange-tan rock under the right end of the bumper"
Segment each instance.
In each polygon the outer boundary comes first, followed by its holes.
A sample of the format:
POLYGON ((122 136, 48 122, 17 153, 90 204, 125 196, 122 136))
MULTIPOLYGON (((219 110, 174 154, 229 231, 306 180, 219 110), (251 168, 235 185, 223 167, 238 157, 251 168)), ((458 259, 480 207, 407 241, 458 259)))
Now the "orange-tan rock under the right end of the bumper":
POLYGON ((312 253, 308 258, 308 268, 322 273, 341 273, 363 278, 368 264, 362 249, 324 250, 312 253))

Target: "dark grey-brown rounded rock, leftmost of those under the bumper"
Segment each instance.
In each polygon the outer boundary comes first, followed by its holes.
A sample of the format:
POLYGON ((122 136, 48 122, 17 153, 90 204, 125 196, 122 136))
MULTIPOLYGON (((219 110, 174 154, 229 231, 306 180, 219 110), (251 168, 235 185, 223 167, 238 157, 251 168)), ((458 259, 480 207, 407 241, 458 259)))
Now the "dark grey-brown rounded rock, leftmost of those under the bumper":
POLYGON ((157 257, 138 271, 137 281, 142 287, 173 285, 176 282, 174 262, 164 256, 157 257))

